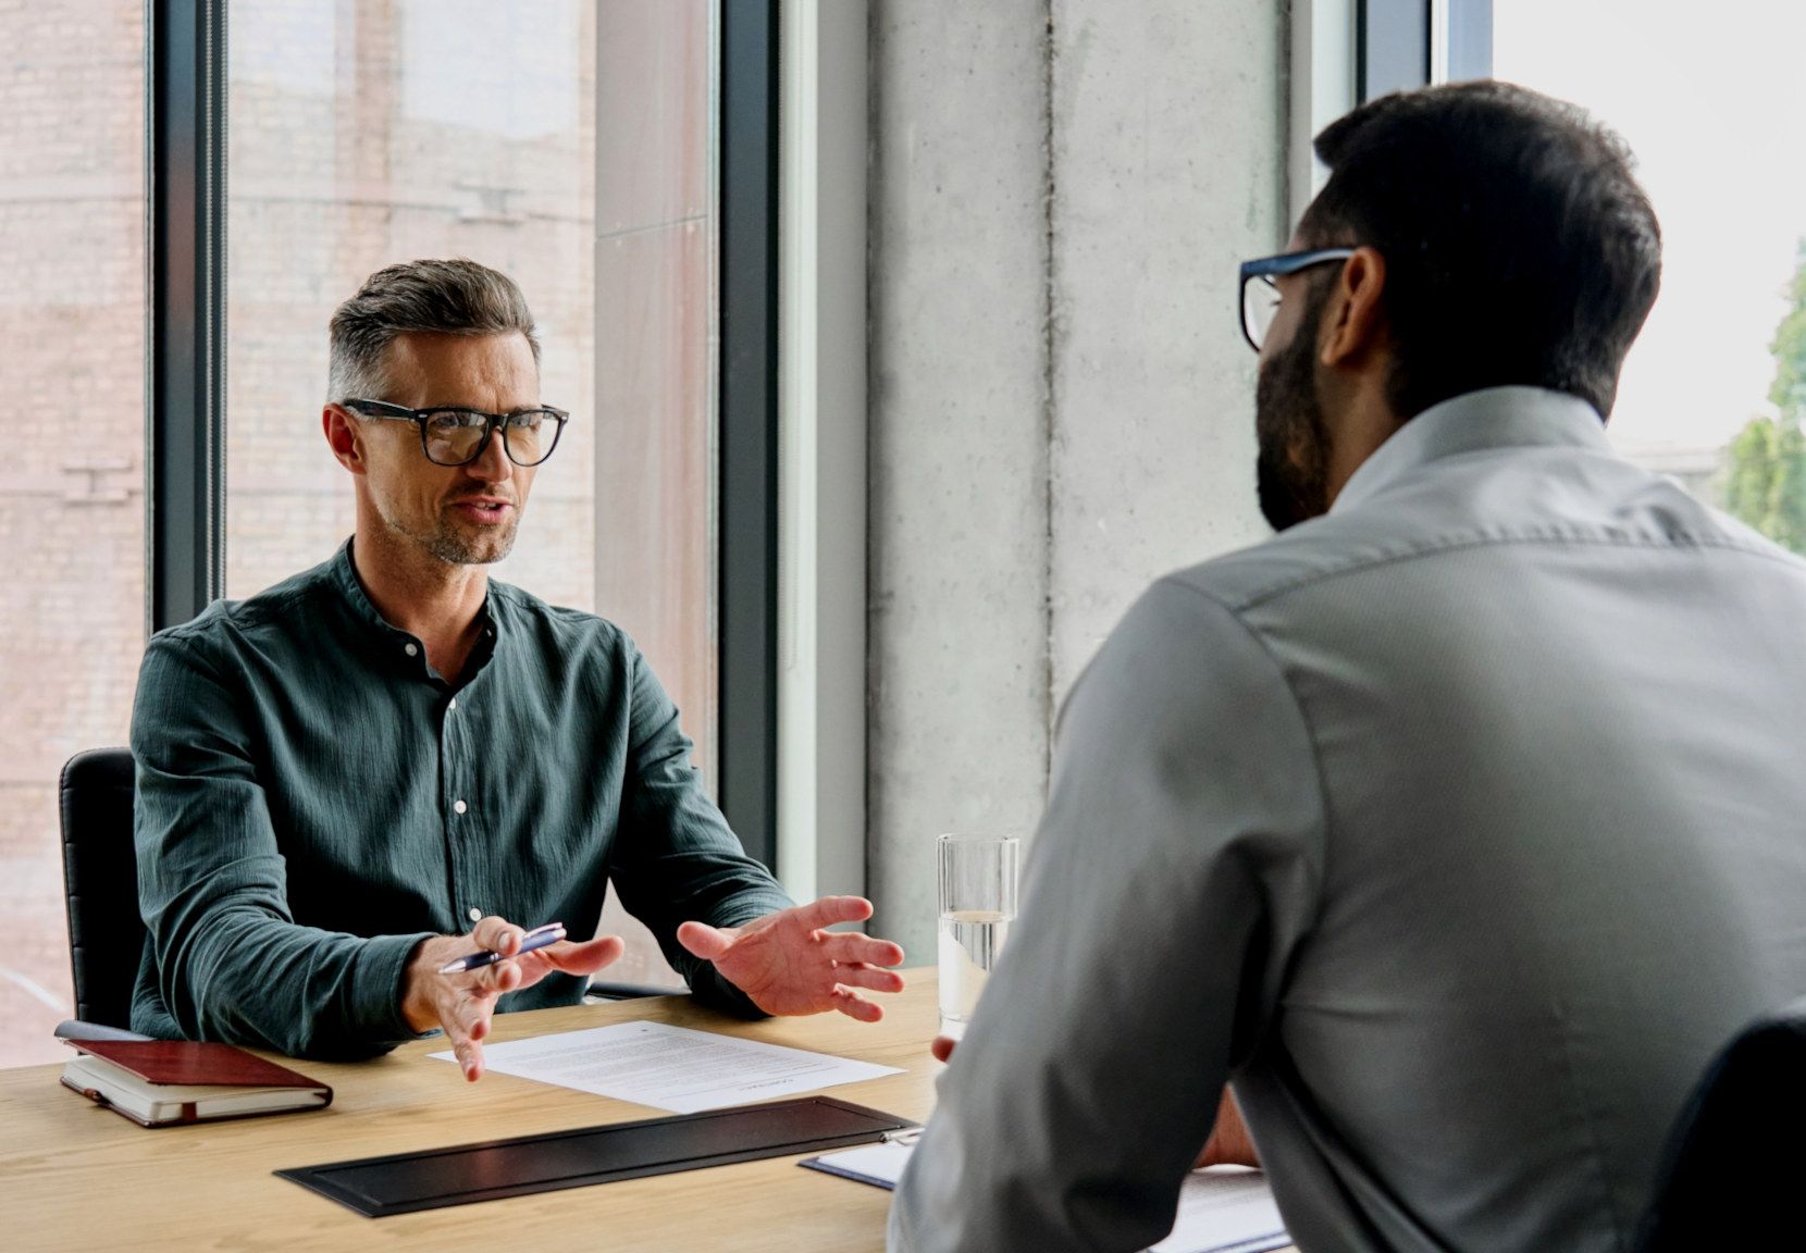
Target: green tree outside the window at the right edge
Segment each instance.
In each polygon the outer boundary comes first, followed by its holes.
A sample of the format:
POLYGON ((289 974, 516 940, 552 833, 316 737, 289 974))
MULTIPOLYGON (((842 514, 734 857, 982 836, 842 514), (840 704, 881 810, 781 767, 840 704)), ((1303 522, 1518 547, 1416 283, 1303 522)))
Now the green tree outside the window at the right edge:
POLYGON ((1806 552, 1806 240, 1790 289, 1792 307, 1768 350, 1777 417, 1752 417, 1730 441, 1725 507, 1775 543, 1806 552))

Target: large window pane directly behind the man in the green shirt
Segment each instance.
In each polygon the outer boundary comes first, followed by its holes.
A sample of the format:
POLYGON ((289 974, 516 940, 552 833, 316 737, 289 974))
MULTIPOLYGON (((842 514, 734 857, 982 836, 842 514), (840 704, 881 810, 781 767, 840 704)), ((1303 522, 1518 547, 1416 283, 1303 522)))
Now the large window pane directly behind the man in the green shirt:
MULTIPOLYGON (((327 321, 372 271, 520 283, 571 412, 493 571, 634 636, 713 776, 713 4, 231 4, 228 596, 352 531, 327 321), (600 96, 600 99, 598 99, 600 96)), ((522 919, 538 921, 538 919, 522 919)), ((612 905, 603 979, 675 982, 612 905)))

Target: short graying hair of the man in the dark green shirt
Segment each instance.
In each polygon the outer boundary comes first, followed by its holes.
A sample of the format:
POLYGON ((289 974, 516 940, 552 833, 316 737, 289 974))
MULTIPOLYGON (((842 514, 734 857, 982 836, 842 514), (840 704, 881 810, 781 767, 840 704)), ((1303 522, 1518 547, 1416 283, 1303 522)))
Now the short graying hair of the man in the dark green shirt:
POLYGON ((540 363, 533 312, 515 280, 466 260, 386 265, 332 314, 327 401, 381 401, 388 392, 388 345, 408 332, 500 336, 520 332, 540 363))

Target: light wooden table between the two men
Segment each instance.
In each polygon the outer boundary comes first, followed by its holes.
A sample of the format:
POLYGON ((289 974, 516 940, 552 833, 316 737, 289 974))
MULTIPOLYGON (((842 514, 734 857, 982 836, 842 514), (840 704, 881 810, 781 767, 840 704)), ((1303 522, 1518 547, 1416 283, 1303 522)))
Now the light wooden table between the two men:
MULTIPOLYGON (((934 971, 878 997, 885 1018, 740 1022, 688 997, 538 1009, 495 1018, 495 1040, 650 1018, 903 1067, 827 1089, 925 1119, 934 1105, 934 971)), ((332 1105, 231 1123, 128 1123, 61 1087, 58 1065, 0 1071, 0 1244, 7 1249, 433 1249, 435 1253, 878 1253, 890 1193, 773 1157, 713 1170, 365 1219, 273 1170, 502 1136, 659 1118, 665 1110, 488 1074, 466 1083, 430 1060, 442 1040, 376 1062, 298 1067, 332 1105)))

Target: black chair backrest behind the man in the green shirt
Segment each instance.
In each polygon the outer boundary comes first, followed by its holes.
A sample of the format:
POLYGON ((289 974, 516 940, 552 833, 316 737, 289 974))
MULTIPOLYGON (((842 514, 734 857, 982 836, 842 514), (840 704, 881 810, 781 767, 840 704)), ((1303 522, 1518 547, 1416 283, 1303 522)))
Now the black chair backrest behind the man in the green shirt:
POLYGON ((132 988, 144 951, 132 843, 132 753, 76 753, 63 766, 63 892, 76 1018, 132 1026, 132 988))

